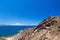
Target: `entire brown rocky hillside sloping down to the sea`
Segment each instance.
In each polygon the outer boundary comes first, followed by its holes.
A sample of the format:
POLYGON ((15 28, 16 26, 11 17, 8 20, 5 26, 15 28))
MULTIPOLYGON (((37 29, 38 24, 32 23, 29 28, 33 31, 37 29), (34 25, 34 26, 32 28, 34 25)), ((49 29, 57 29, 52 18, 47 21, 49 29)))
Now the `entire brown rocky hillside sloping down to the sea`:
POLYGON ((12 40, 60 40, 60 16, 51 16, 35 28, 29 28, 12 40))

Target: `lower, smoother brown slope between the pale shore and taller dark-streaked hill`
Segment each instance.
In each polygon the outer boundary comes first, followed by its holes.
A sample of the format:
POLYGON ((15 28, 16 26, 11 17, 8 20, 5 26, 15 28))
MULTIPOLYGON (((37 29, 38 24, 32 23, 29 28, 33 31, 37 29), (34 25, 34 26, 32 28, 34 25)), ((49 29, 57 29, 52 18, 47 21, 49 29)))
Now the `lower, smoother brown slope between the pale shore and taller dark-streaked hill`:
POLYGON ((31 39, 31 34, 34 31, 34 28, 29 28, 24 30, 21 34, 20 34, 20 38, 18 40, 30 40, 31 39))

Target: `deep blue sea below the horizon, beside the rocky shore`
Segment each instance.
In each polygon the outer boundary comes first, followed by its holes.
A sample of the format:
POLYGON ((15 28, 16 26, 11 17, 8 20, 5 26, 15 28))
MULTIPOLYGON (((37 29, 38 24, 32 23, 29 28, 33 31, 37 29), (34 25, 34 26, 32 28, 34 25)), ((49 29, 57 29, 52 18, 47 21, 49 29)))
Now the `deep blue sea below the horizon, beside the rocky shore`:
POLYGON ((0 26, 0 36, 11 36, 17 34, 20 30, 32 28, 34 26, 0 26))

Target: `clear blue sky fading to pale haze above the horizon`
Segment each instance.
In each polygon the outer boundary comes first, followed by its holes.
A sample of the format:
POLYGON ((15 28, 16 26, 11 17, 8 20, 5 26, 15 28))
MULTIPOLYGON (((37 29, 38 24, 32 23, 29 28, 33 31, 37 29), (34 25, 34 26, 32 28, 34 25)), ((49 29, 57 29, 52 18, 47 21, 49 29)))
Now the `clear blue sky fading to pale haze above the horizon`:
POLYGON ((60 16, 60 0, 0 0, 0 24, 37 25, 60 16))

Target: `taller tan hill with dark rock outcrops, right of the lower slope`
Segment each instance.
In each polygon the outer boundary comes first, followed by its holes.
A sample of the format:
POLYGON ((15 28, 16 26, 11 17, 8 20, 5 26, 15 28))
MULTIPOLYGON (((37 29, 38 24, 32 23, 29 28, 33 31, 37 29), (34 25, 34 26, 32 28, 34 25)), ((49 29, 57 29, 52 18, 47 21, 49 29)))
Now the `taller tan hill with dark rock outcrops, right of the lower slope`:
POLYGON ((35 30, 31 40, 60 40, 60 16, 48 17, 35 30))

